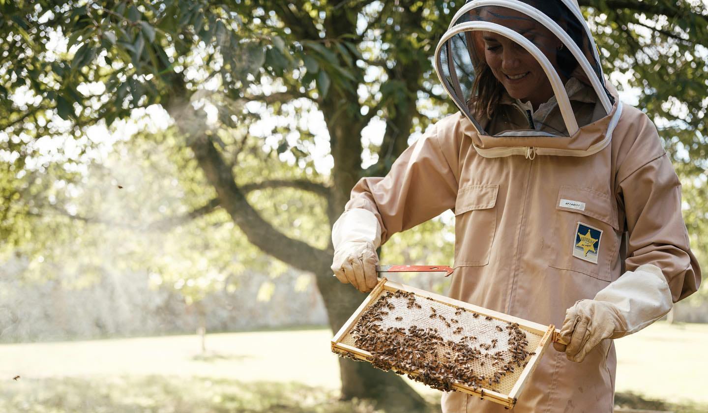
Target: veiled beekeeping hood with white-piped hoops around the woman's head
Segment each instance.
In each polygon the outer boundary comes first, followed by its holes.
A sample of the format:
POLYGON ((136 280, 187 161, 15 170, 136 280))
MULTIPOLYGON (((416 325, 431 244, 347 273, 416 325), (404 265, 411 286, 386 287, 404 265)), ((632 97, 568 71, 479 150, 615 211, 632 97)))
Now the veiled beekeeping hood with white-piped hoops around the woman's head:
POLYGON ((622 113, 576 0, 468 1, 435 71, 484 157, 588 156, 622 113))

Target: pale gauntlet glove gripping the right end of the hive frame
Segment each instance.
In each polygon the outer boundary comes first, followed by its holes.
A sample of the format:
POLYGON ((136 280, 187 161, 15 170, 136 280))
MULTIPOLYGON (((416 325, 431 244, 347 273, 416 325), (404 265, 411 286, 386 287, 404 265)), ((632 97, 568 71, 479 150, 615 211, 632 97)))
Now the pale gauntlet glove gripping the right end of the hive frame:
POLYGON ((661 270, 644 264, 607 285, 595 299, 580 300, 566 310, 561 337, 569 344, 554 343, 554 348, 580 363, 600 341, 638 332, 672 306, 671 290, 661 270))

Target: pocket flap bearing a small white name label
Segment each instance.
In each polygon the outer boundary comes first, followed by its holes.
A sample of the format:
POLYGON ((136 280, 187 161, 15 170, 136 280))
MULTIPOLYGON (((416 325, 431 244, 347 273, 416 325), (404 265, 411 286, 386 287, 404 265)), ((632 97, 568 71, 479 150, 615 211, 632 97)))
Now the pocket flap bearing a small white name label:
POLYGON ((587 215, 619 231, 617 206, 606 193, 582 186, 563 185, 558 191, 556 209, 587 215))

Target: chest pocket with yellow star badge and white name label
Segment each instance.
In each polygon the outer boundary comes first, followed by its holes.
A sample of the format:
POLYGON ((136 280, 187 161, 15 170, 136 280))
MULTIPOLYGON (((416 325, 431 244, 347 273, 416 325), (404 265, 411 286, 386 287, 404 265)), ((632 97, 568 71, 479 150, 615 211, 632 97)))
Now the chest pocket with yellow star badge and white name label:
POLYGON ((553 233, 547 240, 548 265, 611 281, 618 253, 617 206, 605 193, 561 186, 553 233))

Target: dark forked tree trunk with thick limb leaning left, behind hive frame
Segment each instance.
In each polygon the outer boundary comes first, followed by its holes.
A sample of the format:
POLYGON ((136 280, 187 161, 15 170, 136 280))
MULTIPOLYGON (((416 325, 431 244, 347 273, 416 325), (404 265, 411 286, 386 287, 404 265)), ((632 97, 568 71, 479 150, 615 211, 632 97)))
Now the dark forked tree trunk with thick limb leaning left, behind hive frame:
MULTIPOLYGON (((344 210, 349 199, 350 188, 360 178, 361 169, 361 125, 341 111, 342 101, 354 96, 331 94, 331 105, 324 109, 325 118, 332 140, 332 152, 335 158, 333 171, 334 188, 329 196, 327 211, 330 225, 344 210), (340 106, 337 106, 340 103, 340 106), (334 108, 339 108, 338 110, 334 108)), ((365 295, 351 285, 340 283, 332 275, 331 263, 333 249, 330 244, 327 251, 315 249, 297 239, 286 237, 258 214, 248 203, 241 188, 236 186, 232 169, 224 162, 215 149, 210 137, 205 134, 205 113, 194 111, 180 102, 180 98, 168 105, 168 112, 176 120, 178 128, 187 138, 188 146, 193 149, 195 159, 205 174, 207 181, 217 191, 219 205, 227 210, 234 223, 239 225, 249 242, 256 245, 265 254, 275 256, 281 261, 305 271, 316 273, 316 283, 324 299, 329 324, 333 334, 358 308, 365 295), (277 247, 276 247, 277 246, 277 247)), ((421 395, 399 376, 373 368, 369 363, 357 363, 340 359, 343 400, 353 397, 372 399, 377 408, 386 412, 423 412, 427 404, 421 395)))

